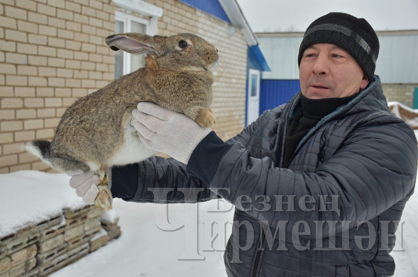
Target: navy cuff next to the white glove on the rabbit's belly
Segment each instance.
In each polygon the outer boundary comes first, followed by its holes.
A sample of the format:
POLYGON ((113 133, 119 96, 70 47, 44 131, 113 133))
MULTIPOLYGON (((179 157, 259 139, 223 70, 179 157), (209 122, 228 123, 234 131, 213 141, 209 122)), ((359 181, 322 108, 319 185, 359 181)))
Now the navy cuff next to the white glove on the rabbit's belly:
POLYGON ((219 163, 231 147, 232 144, 225 144, 215 131, 211 131, 191 153, 186 172, 210 184, 218 170, 219 163))

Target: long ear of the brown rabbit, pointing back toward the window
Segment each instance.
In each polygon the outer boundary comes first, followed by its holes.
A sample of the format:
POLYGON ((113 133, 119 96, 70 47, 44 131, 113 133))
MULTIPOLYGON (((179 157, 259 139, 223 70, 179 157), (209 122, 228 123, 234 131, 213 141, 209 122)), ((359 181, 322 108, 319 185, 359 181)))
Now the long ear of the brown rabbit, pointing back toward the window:
POLYGON ((124 50, 131 54, 142 54, 144 52, 151 55, 158 55, 162 52, 159 44, 150 35, 141 33, 122 33, 110 35, 104 39, 110 49, 117 51, 124 50))

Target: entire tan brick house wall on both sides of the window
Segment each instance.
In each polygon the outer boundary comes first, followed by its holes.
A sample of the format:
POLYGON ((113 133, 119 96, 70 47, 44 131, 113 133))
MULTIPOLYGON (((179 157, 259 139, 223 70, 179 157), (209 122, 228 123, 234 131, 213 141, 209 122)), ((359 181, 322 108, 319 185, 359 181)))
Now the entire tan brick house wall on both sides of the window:
MULTIPOLYGON (((190 32, 216 44, 213 126, 222 139, 245 124, 247 45, 238 28, 176 0, 147 0, 163 8, 159 35, 190 32)), ((111 0, 0 0, 0 173, 50 170, 20 146, 51 140, 65 109, 114 78, 111 0)))

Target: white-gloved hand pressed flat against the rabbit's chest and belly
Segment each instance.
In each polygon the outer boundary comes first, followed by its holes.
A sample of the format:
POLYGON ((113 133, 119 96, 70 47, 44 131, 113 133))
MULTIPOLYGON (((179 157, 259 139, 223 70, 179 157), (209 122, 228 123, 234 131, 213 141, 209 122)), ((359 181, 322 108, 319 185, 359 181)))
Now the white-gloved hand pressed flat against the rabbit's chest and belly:
POLYGON ((194 120, 150 102, 140 102, 132 111, 131 125, 148 148, 187 164, 191 153, 212 130, 194 120))

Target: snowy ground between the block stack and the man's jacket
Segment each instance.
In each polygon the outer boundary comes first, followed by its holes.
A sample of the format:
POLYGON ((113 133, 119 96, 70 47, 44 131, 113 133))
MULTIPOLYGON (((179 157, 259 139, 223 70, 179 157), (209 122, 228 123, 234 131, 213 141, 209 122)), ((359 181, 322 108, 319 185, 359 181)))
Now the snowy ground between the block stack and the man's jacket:
MULTIPOLYGON (((206 252, 201 250, 204 247, 203 221, 232 222, 233 210, 208 212, 211 204, 216 205, 216 200, 199 204, 165 205, 113 199, 114 209, 120 217, 118 225, 122 231, 121 236, 50 276, 226 277, 223 249, 231 234, 232 224, 226 224, 226 239, 223 239, 223 243, 218 245, 218 238, 214 240, 213 247, 219 247, 222 251, 206 252), (154 207, 157 205, 157 209, 168 206, 168 221, 171 224, 183 223, 184 209, 190 211, 199 206, 197 218, 186 217, 186 224, 195 224, 199 219, 199 254, 205 257, 204 260, 177 259, 184 253, 184 239, 195 237, 195 231, 189 232, 185 227, 170 232, 159 229, 154 222, 154 207)), ((213 228, 214 232, 217 231, 216 224, 213 228)))

